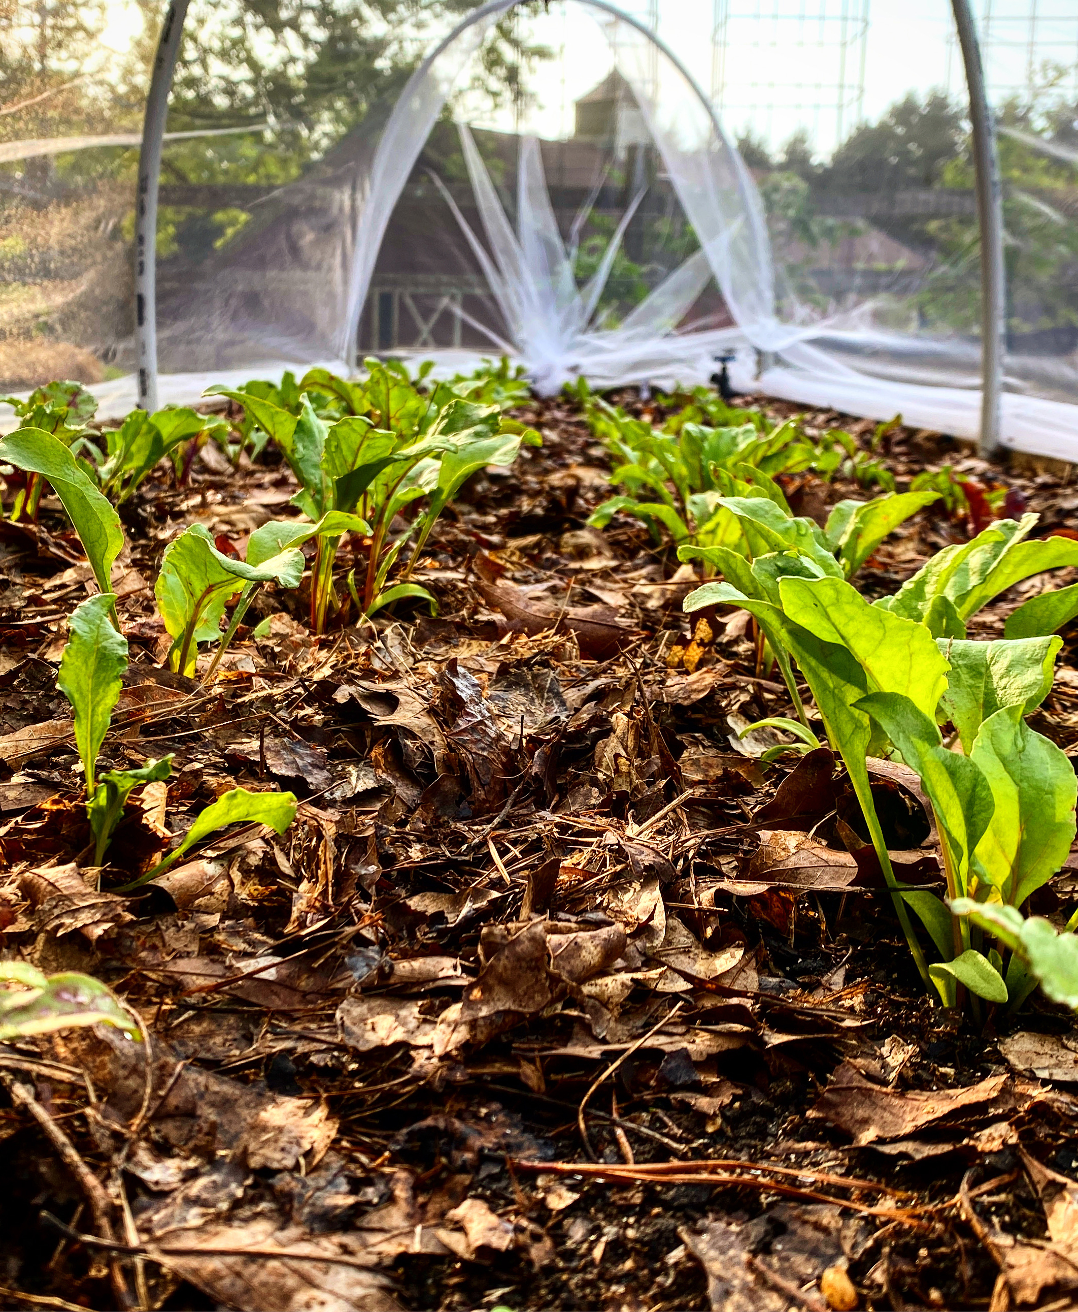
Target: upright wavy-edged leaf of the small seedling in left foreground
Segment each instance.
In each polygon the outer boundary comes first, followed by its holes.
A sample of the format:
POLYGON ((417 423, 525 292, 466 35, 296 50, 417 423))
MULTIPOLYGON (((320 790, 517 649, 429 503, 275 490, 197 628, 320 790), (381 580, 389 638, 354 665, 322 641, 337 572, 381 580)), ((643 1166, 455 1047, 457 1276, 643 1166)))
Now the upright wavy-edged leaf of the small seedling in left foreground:
POLYGON ((75 708, 75 744, 83 761, 87 796, 93 796, 97 753, 109 732, 127 668, 127 639, 111 622, 115 596, 88 597, 68 621, 56 686, 75 708))

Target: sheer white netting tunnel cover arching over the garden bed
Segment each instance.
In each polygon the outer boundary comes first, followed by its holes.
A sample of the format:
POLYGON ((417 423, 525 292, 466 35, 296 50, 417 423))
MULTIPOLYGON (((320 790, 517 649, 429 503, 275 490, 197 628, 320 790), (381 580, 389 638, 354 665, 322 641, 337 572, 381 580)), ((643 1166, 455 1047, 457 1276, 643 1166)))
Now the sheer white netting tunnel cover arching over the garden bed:
MULTIPOLYGON (((169 12, 0 14, 5 388, 80 378, 119 411, 155 365, 160 401, 190 401, 378 353, 506 354, 555 391, 695 383, 732 353, 740 387, 981 436, 984 243, 948 7, 169 12)), ((1001 440, 1073 458, 1078 12, 973 17, 1002 186, 1001 440)))

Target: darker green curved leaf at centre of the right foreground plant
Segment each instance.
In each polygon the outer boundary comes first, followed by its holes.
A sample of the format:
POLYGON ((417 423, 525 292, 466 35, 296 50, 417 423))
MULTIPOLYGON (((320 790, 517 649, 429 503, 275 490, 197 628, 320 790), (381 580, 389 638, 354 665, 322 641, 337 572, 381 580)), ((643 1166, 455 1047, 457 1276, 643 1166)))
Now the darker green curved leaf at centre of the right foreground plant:
POLYGON ((973 851, 995 807, 989 781, 970 758, 943 747, 935 720, 909 697, 872 693, 858 708, 876 720, 906 765, 921 775, 943 840, 948 891, 952 897, 964 896, 973 851))

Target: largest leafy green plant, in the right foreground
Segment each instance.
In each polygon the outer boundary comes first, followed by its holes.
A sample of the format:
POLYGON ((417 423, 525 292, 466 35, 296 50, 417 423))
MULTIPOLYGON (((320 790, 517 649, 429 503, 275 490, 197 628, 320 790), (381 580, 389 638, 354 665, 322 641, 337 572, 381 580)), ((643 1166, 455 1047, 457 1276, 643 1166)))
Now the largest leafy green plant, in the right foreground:
MULTIPOLYGON (((746 504, 757 513, 749 533, 759 534, 776 506, 763 500, 746 504), (761 513, 762 505, 770 509, 761 513)), ((730 548, 682 551, 692 556, 707 550, 728 580, 704 584, 686 598, 685 609, 748 610, 776 655, 784 656, 783 674, 807 724, 793 663, 800 669, 828 739, 846 765, 918 968, 949 1006, 960 988, 1016 1006, 1036 977, 1026 958, 1015 956, 1006 943, 972 942, 968 920, 952 917, 948 903, 898 884, 866 758, 897 752, 919 775, 940 836, 949 901, 974 897, 1018 908, 1066 859, 1075 834, 1074 769, 1024 719, 1050 689, 1061 640, 977 643, 932 631, 934 623, 947 622, 964 632, 963 615, 985 605, 995 589, 1045 564, 1066 562, 1057 543, 1024 543, 1020 534, 1031 526, 1032 521, 1006 523, 974 543, 939 552, 918 576, 921 584, 906 588, 905 614, 897 606, 869 605, 843 579, 824 572, 809 535, 751 559, 730 548), (948 719, 964 752, 943 743, 938 720, 948 719), (931 966, 908 911, 921 920, 939 956, 931 966), (1005 953, 1011 956, 1006 975, 1005 953)), ((772 544, 765 534, 750 548, 772 544)), ((803 743, 810 741, 807 728, 796 732, 803 743)))

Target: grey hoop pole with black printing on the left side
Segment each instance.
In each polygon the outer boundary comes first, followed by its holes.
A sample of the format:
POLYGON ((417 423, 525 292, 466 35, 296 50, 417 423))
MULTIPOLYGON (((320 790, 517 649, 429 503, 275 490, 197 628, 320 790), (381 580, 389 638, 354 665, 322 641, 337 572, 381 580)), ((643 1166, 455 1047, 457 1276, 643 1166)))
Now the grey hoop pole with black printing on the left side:
POLYGON ((139 407, 157 408, 157 185, 172 75, 184 37, 189 0, 172 0, 157 41, 146 98, 135 205, 135 366, 139 407))

